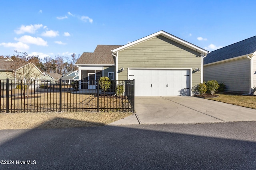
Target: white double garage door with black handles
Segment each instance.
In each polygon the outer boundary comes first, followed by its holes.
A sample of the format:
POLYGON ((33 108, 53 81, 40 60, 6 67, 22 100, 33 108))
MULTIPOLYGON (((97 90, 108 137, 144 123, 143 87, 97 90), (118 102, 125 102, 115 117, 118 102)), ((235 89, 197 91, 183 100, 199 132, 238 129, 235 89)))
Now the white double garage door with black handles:
POLYGON ((190 70, 129 68, 135 96, 189 96, 190 70))

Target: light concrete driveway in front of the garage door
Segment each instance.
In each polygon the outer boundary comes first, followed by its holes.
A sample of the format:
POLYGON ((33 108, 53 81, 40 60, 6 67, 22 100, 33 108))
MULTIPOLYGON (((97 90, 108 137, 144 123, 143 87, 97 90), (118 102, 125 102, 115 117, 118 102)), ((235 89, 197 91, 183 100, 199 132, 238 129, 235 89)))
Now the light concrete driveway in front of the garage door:
POLYGON ((256 121, 256 109, 192 96, 135 97, 135 111, 110 125, 256 121))

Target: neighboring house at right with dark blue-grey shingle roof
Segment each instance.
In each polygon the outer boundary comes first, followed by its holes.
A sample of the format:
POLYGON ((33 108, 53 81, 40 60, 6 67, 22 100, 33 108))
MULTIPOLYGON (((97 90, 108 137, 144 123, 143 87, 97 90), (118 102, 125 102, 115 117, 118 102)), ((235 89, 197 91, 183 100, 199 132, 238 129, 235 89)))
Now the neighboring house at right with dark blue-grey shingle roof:
POLYGON ((256 87, 256 36, 212 51, 204 58, 204 81, 226 84, 226 92, 251 94, 256 87))

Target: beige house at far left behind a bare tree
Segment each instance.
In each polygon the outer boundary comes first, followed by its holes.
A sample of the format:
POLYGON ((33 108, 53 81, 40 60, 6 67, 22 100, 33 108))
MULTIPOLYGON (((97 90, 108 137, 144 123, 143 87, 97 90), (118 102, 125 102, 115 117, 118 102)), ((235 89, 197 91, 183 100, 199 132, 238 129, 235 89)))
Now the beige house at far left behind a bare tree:
POLYGON ((0 59, 0 79, 40 79, 42 72, 33 63, 23 66, 16 64, 12 59, 0 59))

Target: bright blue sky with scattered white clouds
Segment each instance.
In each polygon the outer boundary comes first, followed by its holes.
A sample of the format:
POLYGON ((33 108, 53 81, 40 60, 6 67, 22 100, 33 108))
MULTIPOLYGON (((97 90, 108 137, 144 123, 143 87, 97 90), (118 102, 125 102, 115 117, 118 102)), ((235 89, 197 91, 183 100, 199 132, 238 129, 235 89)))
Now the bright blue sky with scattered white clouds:
POLYGON ((0 0, 0 55, 70 57, 164 30, 208 51, 256 35, 254 0, 0 0))

